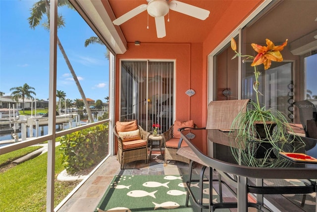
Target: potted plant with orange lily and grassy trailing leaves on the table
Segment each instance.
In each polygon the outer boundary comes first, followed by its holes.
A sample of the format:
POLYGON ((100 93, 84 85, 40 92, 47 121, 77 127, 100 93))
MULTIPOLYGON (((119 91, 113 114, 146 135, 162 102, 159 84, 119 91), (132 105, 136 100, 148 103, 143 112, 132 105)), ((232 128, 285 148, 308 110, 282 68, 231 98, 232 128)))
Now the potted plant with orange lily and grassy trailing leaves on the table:
MULTIPOLYGON (((257 44, 251 44, 258 53, 255 57, 251 55, 242 55, 236 51, 236 42, 231 39, 231 48, 236 53, 233 57, 245 57, 253 59, 251 66, 254 67, 255 82, 253 89, 256 92, 256 102, 251 101, 246 112, 240 112, 232 123, 234 132, 235 146, 231 148, 235 159, 242 164, 249 166, 283 166, 287 165, 285 159, 279 156, 279 152, 295 152, 298 148, 305 146, 304 142, 297 140, 294 136, 287 133, 292 131, 288 119, 283 112, 266 109, 259 102, 259 76, 261 72, 258 65, 264 64, 264 70, 267 70, 271 61, 283 61, 280 51, 287 45, 287 40, 280 46, 266 39, 266 47, 257 44)), ((244 62, 243 60, 243 62, 244 62)))

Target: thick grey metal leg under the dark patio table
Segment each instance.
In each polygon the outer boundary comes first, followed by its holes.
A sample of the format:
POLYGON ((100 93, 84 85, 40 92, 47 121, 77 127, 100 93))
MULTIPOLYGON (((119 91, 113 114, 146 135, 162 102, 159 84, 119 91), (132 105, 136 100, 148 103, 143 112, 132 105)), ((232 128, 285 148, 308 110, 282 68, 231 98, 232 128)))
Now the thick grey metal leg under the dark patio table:
POLYGON ((248 211, 248 192, 247 192, 247 181, 248 178, 244 176, 238 176, 238 212, 248 211))

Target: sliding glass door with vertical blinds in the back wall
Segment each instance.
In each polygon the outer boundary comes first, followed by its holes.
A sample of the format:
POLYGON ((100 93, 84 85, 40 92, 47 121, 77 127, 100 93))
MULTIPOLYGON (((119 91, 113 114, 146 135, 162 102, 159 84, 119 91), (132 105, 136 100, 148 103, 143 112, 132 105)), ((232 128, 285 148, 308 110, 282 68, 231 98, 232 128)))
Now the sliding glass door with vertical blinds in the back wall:
POLYGON ((173 123, 174 62, 121 61, 120 120, 138 120, 147 131, 173 123))

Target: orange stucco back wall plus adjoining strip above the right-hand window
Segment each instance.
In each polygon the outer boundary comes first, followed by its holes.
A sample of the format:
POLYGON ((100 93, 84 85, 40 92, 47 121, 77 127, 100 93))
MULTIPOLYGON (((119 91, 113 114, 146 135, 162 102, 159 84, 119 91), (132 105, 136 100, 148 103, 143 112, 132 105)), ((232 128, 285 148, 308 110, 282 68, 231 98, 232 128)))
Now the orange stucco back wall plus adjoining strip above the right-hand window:
MULTIPOLYGON (((208 106, 208 55, 261 2, 263 0, 232 1, 222 18, 211 27, 210 34, 204 43, 141 43, 140 46, 129 43, 127 52, 116 56, 115 95, 118 96, 119 91, 120 59, 174 59, 176 63, 176 119, 193 119, 198 127, 204 127, 208 106), (185 94, 188 89, 195 90, 196 94, 188 97, 185 94)), ((116 98, 115 106, 119 106, 118 98, 116 98)), ((115 120, 118 120, 118 113, 115 114, 115 120)))

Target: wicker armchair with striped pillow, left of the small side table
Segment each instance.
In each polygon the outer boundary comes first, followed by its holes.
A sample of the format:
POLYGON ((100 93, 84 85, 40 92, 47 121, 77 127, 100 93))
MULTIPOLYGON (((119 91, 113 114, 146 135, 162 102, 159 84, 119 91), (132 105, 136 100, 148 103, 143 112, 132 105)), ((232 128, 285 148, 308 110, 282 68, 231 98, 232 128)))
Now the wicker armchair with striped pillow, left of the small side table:
POLYGON ((116 122, 114 135, 118 139, 117 160, 121 169, 128 162, 145 160, 148 162, 148 140, 150 133, 143 130, 137 121, 116 122))

